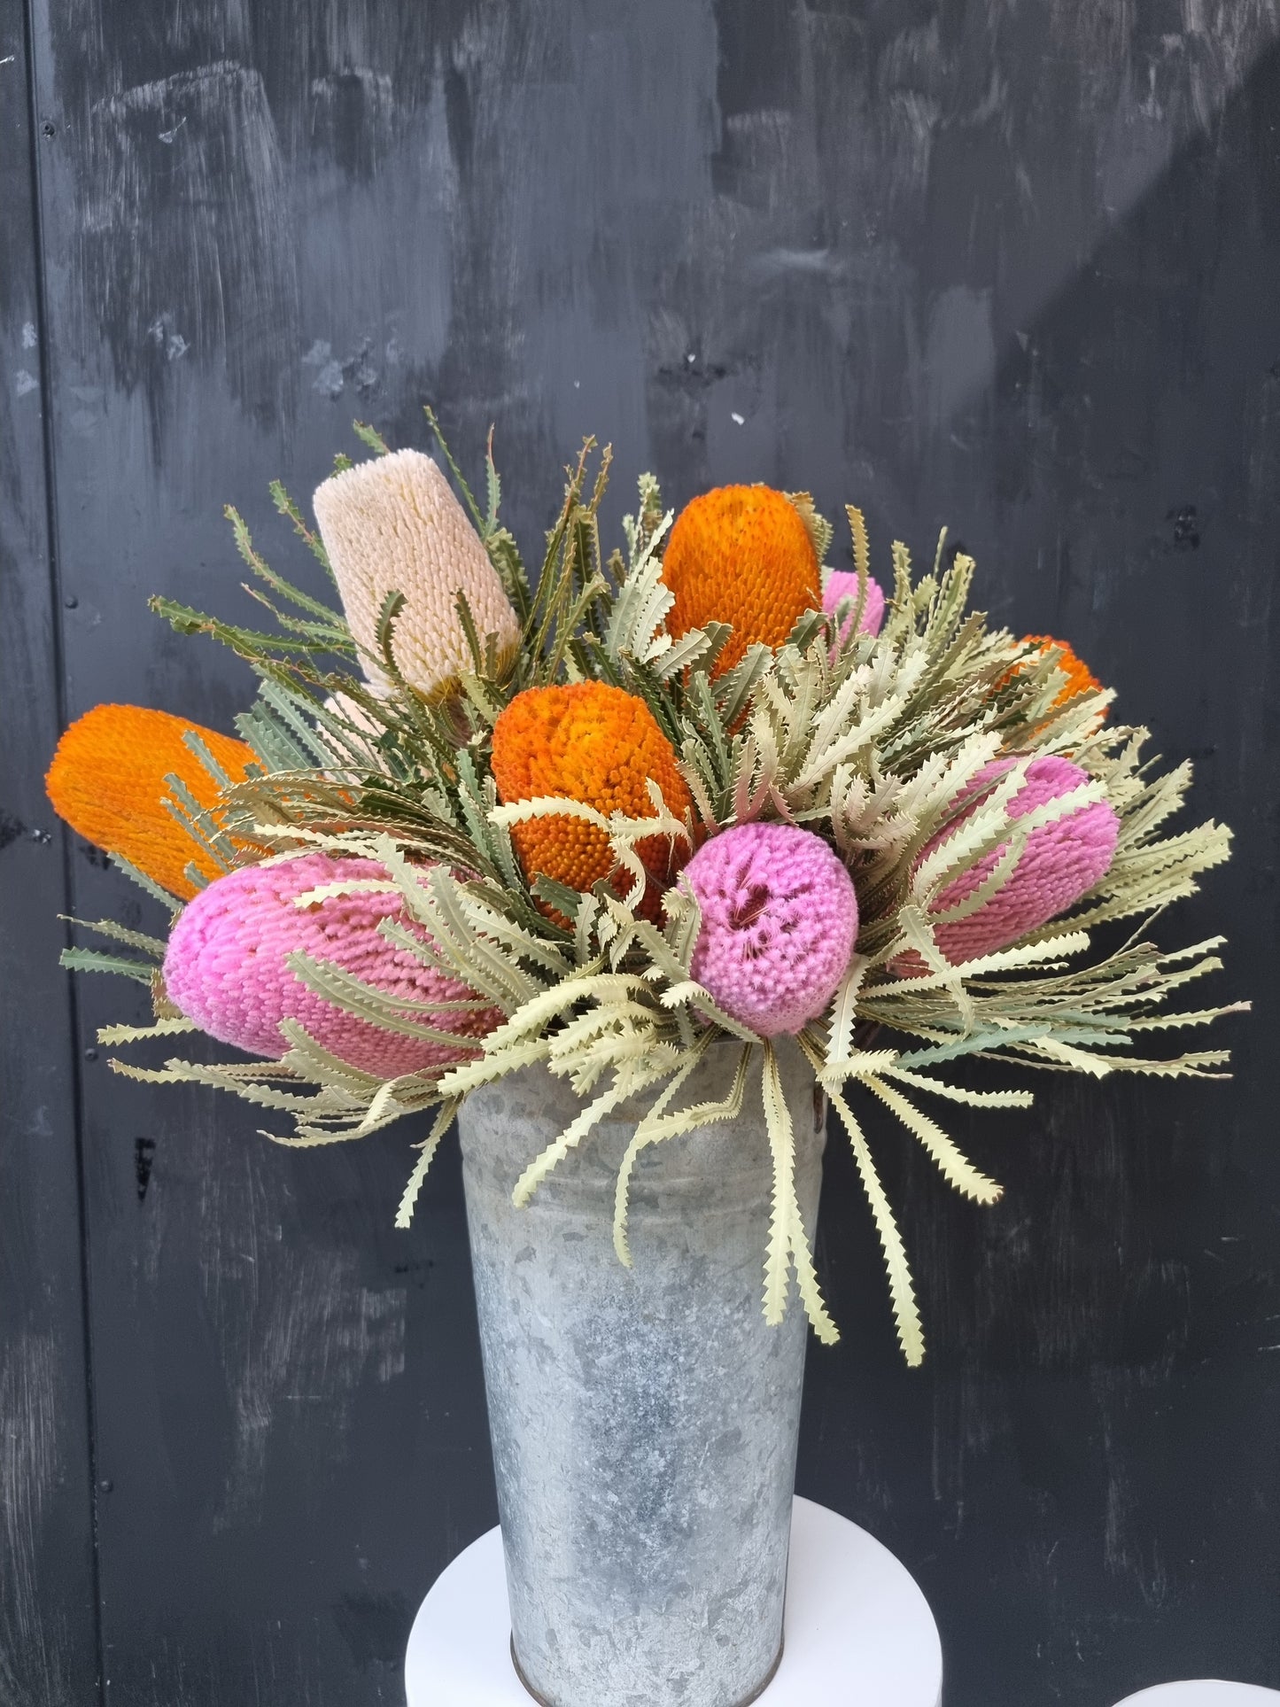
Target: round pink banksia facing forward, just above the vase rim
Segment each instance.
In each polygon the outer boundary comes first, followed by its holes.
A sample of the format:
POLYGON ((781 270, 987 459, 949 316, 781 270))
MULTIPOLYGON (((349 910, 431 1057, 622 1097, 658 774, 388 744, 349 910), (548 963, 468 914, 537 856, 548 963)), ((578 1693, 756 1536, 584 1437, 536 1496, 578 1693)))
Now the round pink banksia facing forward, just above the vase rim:
POLYGON ((823 1012, 858 934, 853 881, 821 836, 734 824, 684 867, 701 908, 693 976, 765 1038, 823 1012))

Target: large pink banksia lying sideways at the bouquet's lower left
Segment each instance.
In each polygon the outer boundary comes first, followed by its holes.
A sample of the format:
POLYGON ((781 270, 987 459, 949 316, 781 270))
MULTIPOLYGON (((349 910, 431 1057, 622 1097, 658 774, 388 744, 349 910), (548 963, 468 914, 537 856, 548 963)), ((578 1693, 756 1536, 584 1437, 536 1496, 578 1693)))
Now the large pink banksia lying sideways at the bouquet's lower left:
POLYGON ((497 1009, 442 1014, 423 1007, 404 1009, 406 1019, 457 1033, 459 1045, 451 1048, 382 1031, 348 1014, 309 990, 285 964, 288 954, 302 949, 404 1002, 474 999, 474 990, 377 934, 381 920, 398 918, 428 941, 410 922, 398 894, 336 894, 307 906, 294 905, 294 896, 323 884, 386 876, 375 860, 307 854, 280 865, 244 865, 217 877, 188 903, 169 937, 164 958, 169 1000, 220 1043, 271 1060, 288 1048, 280 1031, 282 1019, 295 1019, 338 1060, 382 1079, 468 1060, 476 1053, 469 1040, 502 1021, 497 1009))

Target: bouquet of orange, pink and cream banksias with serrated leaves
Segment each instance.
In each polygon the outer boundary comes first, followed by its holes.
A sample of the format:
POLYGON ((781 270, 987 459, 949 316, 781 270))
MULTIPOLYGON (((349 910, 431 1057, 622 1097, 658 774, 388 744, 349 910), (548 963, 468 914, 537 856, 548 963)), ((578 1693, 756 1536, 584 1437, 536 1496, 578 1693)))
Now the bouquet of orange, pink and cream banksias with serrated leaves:
POLYGON ((294 1145, 433 1111, 399 1226, 471 1089, 544 1062, 582 1099, 514 1183, 517 1203, 647 1096, 618 1178, 625 1263, 642 1152, 732 1118, 758 1072, 775 1174, 765 1311, 782 1318, 794 1272, 833 1340, 775 1052, 795 1036, 852 1140, 918 1362, 857 1098, 990 1203, 1000 1188, 918 1098, 1031 1096, 954 1082, 966 1057, 1215 1075, 1222 1050, 1143 1053, 1149 1033, 1242 1005, 1171 1011, 1219 966, 1220 939, 1167 953, 1149 937, 1229 855, 1215 823, 1162 833, 1190 765, 1155 772, 1145 731, 1108 720, 1113 693, 1067 645, 969 613, 975 565, 944 541, 920 580, 894 545, 886 597, 857 509, 855 568, 824 570, 833 529, 807 493, 725 486, 672 524, 642 476, 626 550, 606 558, 609 456, 589 442, 532 577, 498 521, 492 444, 481 510, 437 432, 464 510, 432 457, 357 432, 377 454, 338 459, 316 492, 319 533, 271 488, 343 615, 275 574, 234 510, 278 633, 152 601, 253 664, 242 739, 97 707, 53 760, 60 814, 172 913, 164 939, 101 920, 89 929, 121 953, 67 953, 152 990, 155 1022, 102 1041, 205 1031, 254 1057, 113 1067, 292 1115, 292 1135, 268 1135, 294 1145), (1096 949, 1091 932, 1116 920, 1140 923, 1096 949), (729 1098, 681 1106, 725 1041, 729 1098))

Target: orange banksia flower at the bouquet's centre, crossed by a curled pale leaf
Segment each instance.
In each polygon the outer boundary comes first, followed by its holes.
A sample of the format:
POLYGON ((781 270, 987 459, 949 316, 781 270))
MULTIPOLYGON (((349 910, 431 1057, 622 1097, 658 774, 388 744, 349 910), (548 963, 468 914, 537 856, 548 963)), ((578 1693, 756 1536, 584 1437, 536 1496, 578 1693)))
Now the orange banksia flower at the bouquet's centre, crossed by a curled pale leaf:
MULTIPOLYGON (((493 725, 493 780, 503 804, 558 795, 601 813, 650 818, 650 777, 683 818, 691 797, 674 748, 643 700, 604 681, 526 688, 493 725)), ((512 824, 510 835, 531 883, 546 876, 585 893, 614 865, 609 838, 580 818, 538 818, 512 824)), ((667 836, 649 836, 637 852, 654 879, 647 910, 655 912, 657 891, 671 883, 689 847, 678 842, 672 850, 667 836)))

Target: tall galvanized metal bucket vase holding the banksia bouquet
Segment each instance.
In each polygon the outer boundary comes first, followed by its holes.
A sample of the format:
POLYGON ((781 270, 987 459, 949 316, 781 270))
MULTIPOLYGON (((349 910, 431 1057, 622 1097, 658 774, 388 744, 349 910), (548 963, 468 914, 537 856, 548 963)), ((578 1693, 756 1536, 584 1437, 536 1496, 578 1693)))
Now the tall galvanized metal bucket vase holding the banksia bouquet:
MULTIPOLYGON (((823 1099, 783 1040, 814 1227, 823 1099)), ((720 1099, 717 1045, 681 1104, 720 1099)), ((647 1149, 633 1267, 613 1250, 621 1108, 534 1193, 512 1186, 580 1101, 544 1067, 459 1116, 512 1656, 550 1707, 739 1707, 782 1656, 806 1318, 761 1311, 773 1176, 759 1072, 736 1121, 647 1149)))

